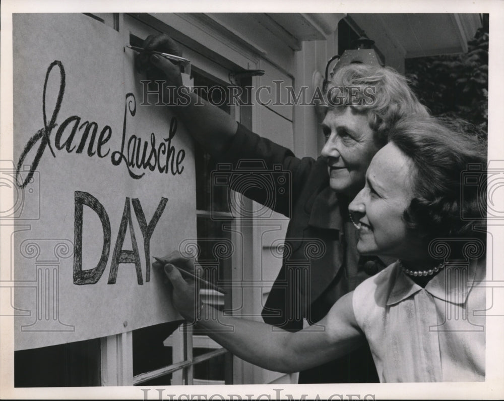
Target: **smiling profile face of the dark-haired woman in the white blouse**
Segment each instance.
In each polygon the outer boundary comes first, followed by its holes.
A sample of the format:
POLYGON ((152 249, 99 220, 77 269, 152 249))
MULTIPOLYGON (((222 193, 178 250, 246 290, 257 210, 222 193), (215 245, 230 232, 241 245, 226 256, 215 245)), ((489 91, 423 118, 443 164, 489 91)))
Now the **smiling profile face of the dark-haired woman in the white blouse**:
POLYGON ((407 229, 403 213, 413 199, 414 166, 394 143, 376 153, 365 187, 349 205, 359 227, 357 250, 402 260, 425 258, 420 238, 407 229))

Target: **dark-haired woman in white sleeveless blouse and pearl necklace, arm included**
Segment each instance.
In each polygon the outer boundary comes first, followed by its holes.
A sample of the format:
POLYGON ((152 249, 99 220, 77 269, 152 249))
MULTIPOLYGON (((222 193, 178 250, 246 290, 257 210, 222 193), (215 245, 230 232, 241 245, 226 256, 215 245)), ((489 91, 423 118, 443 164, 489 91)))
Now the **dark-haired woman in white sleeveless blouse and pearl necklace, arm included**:
POLYGON ((484 380, 484 316, 473 314, 485 309, 484 242, 461 216, 477 214, 486 190, 464 188, 461 197, 461 174, 469 163, 486 163, 486 149, 420 117, 399 122, 389 140, 349 210, 358 251, 395 263, 340 298, 317 325, 295 333, 195 305, 194 287, 167 264, 182 316, 270 370, 306 369, 367 341, 383 382, 484 380))

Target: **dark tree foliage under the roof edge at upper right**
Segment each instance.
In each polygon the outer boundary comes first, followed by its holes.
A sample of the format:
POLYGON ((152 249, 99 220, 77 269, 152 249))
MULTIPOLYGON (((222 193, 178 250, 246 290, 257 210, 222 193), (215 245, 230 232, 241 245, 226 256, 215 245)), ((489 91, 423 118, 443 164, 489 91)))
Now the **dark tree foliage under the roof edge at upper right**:
POLYGON ((488 14, 467 42, 468 52, 406 60, 406 77, 434 116, 461 118, 486 137, 488 119, 488 14))

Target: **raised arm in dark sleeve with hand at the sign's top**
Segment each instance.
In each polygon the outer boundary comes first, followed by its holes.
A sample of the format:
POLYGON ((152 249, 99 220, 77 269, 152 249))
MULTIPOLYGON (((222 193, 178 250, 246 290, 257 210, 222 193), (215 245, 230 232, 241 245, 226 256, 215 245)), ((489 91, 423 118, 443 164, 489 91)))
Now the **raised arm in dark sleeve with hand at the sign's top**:
MULTIPOLYGON (((164 34, 149 36, 145 39, 143 47, 147 50, 181 55, 178 45, 164 34)), ((139 72, 145 71, 149 80, 165 82, 163 87, 168 85, 177 88, 177 90, 163 95, 164 99, 170 100, 171 111, 176 113, 179 121, 187 128, 187 132, 215 160, 233 164, 233 170, 230 171, 230 174, 240 168, 240 160, 254 159, 258 163, 248 164, 247 168, 256 166, 259 175, 265 173, 265 166, 268 172, 273 170, 275 181, 272 182, 272 185, 278 187, 275 190, 276 197, 273 205, 262 185, 241 185, 242 180, 231 180, 234 184, 240 183, 240 185, 233 184, 231 189, 243 193, 256 202, 272 207, 276 212, 291 217, 292 205, 298 200, 312 171, 314 163, 312 158, 298 159, 291 150, 249 132, 245 127, 239 129, 238 123, 229 114, 199 98, 196 93, 189 93, 187 88, 182 85, 179 67, 162 56, 142 52, 137 55, 135 63, 137 70, 139 72), (182 93, 177 101, 177 99, 173 99, 173 93, 178 94, 178 90, 182 93), (187 99, 189 100, 187 101, 187 99), (281 171, 278 170, 279 165, 282 166, 281 171), (283 184, 280 184, 280 175, 283 175, 283 184), (290 191, 285 191, 286 188, 290 188, 290 191)), ((251 180, 255 179, 255 177, 251 177, 251 180)), ((323 177, 321 183, 322 181, 323 177)), ((254 183, 251 182, 251 184, 254 183)))

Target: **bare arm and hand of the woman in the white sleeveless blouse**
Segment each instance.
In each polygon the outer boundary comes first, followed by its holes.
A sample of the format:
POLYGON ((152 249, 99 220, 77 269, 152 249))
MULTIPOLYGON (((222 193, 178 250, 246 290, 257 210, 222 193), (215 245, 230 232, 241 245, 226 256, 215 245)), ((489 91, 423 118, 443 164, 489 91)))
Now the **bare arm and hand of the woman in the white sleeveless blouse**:
MULTIPOLYGON (((165 272, 173 284, 173 305, 184 318, 194 321, 194 287, 172 265, 166 265, 165 272)), ((297 372, 345 355, 362 343, 352 294, 338 300, 317 325, 294 333, 262 322, 224 316, 208 305, 201 306, 198 325, 245 361, 269 370, 297 372)))

